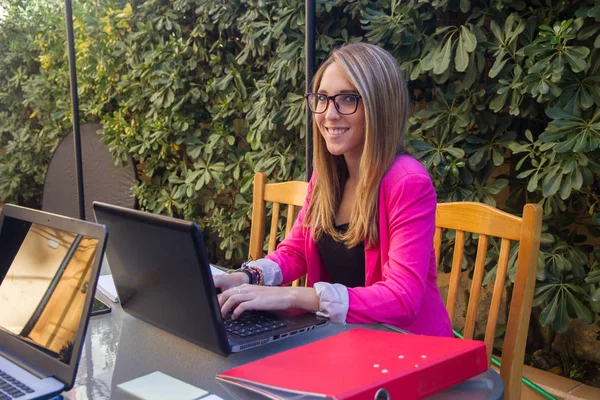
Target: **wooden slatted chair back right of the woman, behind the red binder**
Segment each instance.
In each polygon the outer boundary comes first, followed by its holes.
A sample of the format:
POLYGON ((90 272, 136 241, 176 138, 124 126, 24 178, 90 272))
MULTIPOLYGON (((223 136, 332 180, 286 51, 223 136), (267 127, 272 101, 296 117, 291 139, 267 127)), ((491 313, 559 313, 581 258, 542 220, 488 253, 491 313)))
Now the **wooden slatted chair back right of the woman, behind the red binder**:
POLYGON ((480 312, 489 312, 484 338, 488 352, 488 361, 491 361, 492 357, 492 346, 507 275, 511 241, 519 242, 516 277, 502 348, 502 365, 500 367, 500 375, 505 385, 504 393, 509 400, 520 399, 521 396, 521 377, 523 375, 525 344, 536 280, 541 226, 542 209, 537 204, 525 205, 522 218, 485 204, 469 202, 441 203, 438 204, 436 211, 434 244, 438 262, 440 259, 442 229, 456 231, 448 298, 446 301, 446 309, 450 314, 451 321, 454 321, 455 316, 454 308, 461 272, 465 232, 479 234, 475 269, 465 320, 465 338, 472 339, 474 334, 479 293, 484 275, 488 237, 492 236, 501 239, 500 256, 491 305, 489 311, 479 310, 480 312))

